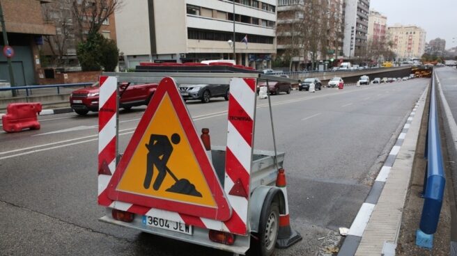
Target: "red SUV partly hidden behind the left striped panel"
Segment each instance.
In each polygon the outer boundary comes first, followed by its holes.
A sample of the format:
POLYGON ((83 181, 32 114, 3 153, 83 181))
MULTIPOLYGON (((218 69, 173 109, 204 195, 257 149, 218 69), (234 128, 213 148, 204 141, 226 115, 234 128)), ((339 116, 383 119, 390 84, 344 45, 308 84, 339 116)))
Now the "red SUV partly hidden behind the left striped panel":
MULTIPOLYGON (((153 97, 157 83, 132 84, 123 83, 119 86, 119 107, 131 109, 132 106, 148 105, 153 97)), ((70 95, 70 106, 79 115, 86 115, 88 111, 98 111, 98 83, 88 88, 75 90, 70 95)))

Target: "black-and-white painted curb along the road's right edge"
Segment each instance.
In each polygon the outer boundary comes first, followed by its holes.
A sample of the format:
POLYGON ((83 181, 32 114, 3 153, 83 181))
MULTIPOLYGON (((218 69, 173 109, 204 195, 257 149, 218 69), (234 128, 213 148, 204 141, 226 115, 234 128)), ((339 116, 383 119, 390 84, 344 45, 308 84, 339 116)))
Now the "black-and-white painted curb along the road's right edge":
MULTIPOLYGON (((421 97, 419 97, 414 109, 412 109, 410 115, 408 116, 405 125, 403 125, 403 129, 401 133, 398 135, 396 143, 392 147, 392 150, 390 150, 389 156, 385 160, 384 166, 382 166, 380 172, 378 173, 378 176, 376 177, 369 194, 366 196, 364 203, 360 207, 357 216, 355 216, 355 219, 352 225, 350 226, 348 235, 343 241, 338 256, 353 256, 357 252, 357 249, 359 248, 359 245, 362 241, 362 237, 364 235, 366 227, 370 221, 371 214, 373 213, 373 210, 375 209, 375 206, 378 203, 382 190, 384 189, 384 186, 387 182, 387 177, 389 177, 391 168, 392 166, 394 166, 394 162, 396 160, 398 152, 400 152, 401 146, 403 145, 403 141, 405 141, 405 136, 408 133, 408 130, 410 129, 412 120, 416 115, 416 111, 419 107, 420 101, 424 99, 424 96, 426 96, 427 89, 424 91, 424 93, 422 93, 421 97)), ((385 241, 381 242, 384 243, 385 241)))

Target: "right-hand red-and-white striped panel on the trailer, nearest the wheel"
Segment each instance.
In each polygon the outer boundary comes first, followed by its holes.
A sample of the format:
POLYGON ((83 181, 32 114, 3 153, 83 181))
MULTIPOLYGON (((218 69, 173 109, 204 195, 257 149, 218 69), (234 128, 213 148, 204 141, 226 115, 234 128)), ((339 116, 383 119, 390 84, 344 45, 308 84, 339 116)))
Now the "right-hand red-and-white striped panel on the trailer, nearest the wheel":
POLYGON ((256 113, 256 79, 233 78, 227 127, 224 190, 232 207, 232 216, 224 225, 229 232, 247 234, 247 209, 249 181, 254 145, 254 120, 256 113), (231 195, 235 182, 240 181, 247 197, 231 195))

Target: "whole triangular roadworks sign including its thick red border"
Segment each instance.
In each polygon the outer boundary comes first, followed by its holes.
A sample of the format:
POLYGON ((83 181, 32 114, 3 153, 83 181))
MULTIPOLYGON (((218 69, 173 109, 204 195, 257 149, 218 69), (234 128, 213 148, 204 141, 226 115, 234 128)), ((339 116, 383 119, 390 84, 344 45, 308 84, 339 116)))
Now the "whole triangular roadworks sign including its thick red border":
POLYGON ((219 221, 231 217, 173 79, 160 81, 109 182, 108 197, 219 221))

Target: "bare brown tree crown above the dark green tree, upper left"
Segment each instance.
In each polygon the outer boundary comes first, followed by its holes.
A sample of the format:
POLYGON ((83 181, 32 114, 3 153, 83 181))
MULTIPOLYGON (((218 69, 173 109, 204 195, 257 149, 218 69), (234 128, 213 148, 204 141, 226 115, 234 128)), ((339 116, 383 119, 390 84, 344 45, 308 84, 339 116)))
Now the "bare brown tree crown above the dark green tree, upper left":
POLYGON ((84 34, 98 33, 102 23, 122 7, 122 0, 70 0, 77 21, 79 39, 84 34))

